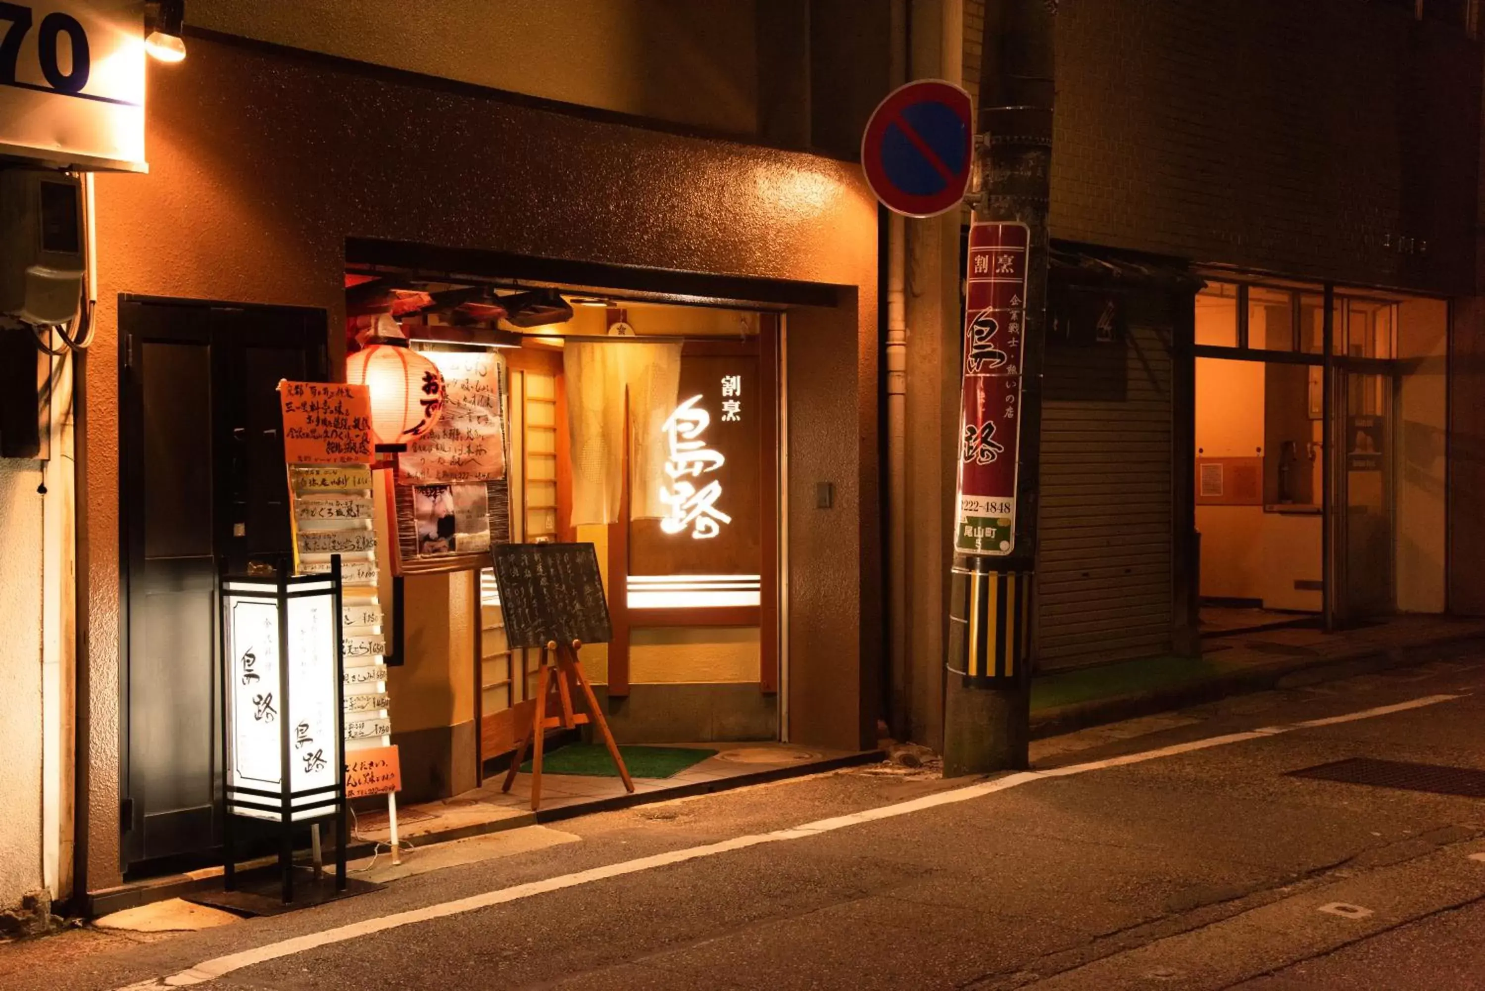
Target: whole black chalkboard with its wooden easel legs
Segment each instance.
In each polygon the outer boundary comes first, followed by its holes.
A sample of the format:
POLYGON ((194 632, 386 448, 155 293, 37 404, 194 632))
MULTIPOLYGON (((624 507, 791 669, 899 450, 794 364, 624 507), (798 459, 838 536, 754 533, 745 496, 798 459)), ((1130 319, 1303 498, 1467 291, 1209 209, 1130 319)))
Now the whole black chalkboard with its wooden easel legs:
POLYGON ((591 724, 598 728, 609 756, 618 765, 624 787, 633 792, 630 770, 624 767, 593 685, 578 660, 584 643, 607 643, 613 636, 597 551, 593 544, 496 544, 492 556, 495 579, 500 588, 506 643, 512 651, 538 648, 542 652, 536 679, 536 713, 511 756, 511 770, 506 771, 500 790, 511 790, 521 761, 526 759, 526 749, 532 747, 532 808, 541 808, 546 730, 591 724), (587 703, 587 715, 573 712, 575 686, 587 703), (558 715, 548 716, 548 694, 554 688, 555 698, 551 704, 558 715))

